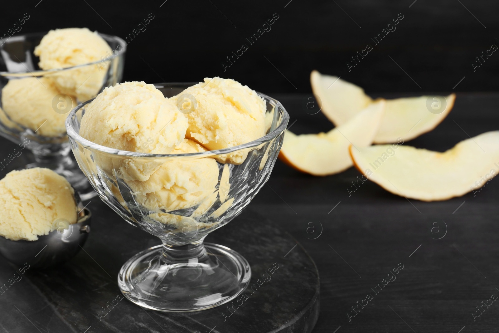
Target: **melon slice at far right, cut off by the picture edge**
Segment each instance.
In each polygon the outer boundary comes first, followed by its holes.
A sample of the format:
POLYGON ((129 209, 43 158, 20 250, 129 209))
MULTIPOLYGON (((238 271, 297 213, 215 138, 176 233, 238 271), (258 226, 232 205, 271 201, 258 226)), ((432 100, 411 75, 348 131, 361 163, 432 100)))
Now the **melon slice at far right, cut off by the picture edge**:
POLYGON ((351 147, 355 167, 385 190, 422 201, 481 188, 499 172, 499 131, 461 141, 446 152, 399 144, 351 147))

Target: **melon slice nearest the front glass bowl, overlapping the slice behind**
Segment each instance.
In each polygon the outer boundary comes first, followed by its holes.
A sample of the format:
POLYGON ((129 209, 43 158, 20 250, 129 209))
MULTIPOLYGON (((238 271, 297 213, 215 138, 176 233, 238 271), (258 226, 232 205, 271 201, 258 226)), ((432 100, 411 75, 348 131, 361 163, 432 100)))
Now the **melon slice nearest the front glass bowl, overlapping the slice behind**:
POLYGON ((379 100, 327 133, 296 135, 286 131, 279 158, 295 169, 315 176, 346 170, 352 166, 348 147, 365 147, 372 143, 384 109, 385 101, 379 100))

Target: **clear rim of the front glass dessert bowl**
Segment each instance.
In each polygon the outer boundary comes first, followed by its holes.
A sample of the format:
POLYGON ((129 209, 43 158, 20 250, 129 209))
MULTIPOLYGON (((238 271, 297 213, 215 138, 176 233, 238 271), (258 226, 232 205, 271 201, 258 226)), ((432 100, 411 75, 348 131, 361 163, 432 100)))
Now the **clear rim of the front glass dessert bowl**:
MULTIPOLYGON (((175 82, 175 83, 157 83, 154 84, 156 87, 160 85, 184 85, 186 83, 181 83, 181 82, 175 82)), ((190 84, 190 83, 187 83, 190 84)), ((115 149, 115 148, 110 148, 106 146, 102 146, 100 144, 97 144, 95 142, 92 142, 90 140, 85 139, 84 137, 80 136, 79 133, 75 131, 75 128, 71 124, 71 119, 75 116, 76 112, 79 111, 83 106, 86 104, 90 103, 91 101, 94 100, 94 98, 89 99, 83 103, 78 104, 74 109, 72 109, 67 118, 66 118, 66 133, 68 137, 72 138, 73 140, 77 141, 78 143, 89 147, 91 149, 113 154, 113 155, 120 155, 120 156, 129 156, 129 157, 146 157, 146 158, 161 158, 161 157, 173 157, 173 156, 181 156, 181 157, 192 157, 192 156, 203 156, 203 157, 208 157, 208 156, 217 156, 217 155, 225 155, 225 154, 230 154, 239 150, 243 149, 248 149, 248 148, 254 148, 257 147, 263 143, 269 142, 273 139, 275 139, 278 135, 283 133, 286 130, 287 123, 289 121, 289 114, 287 113, 286 109, 282 105, 281 102, 276 100, 275 98, 272 98, 268 95, 265 95, 261 92, 256 91, 258 96, 263 97, 269 101, 272 101, 275 103, 274 110, 280 108, 282 110, 282 118, 280 124, 275 127, 273 131, 270 131, 269 133, 265 134, 264 136, 255 139, 253 141, 243 143, 237 146, 233 147, 228 147, 228 148, 223 148, 223 149, 216 149, 216 150, 207 150, 207 151, 202 151, 202 152, 197 152, 197 153, 183 153, 183 154, 152 154, 152 153, 139 153, 139 152, 132 152, 132 151, 126 151, 126 150, 120 150, 120 149, 115 149)), ((274 117, 276 115, 274 114, 274 117)))

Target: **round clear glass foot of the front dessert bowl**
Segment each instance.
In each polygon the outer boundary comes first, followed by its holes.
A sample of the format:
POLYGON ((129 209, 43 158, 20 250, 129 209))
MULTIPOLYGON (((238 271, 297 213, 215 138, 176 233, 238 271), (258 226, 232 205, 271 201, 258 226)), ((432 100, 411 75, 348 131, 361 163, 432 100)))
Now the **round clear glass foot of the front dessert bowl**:
POLYGON ((120 270, 118 286, 133 303, 151 310, 191 312, 230 302, 248 286, 248 261, 225 246, 204 243, 202 256, 169 261, 165 247, 139 252, 120 270))

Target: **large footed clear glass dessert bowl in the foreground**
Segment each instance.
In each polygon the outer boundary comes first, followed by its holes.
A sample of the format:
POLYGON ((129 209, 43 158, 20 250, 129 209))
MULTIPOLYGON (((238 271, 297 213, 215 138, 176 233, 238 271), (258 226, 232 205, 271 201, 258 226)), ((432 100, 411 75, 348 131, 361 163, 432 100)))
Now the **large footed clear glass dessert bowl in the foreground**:
MULTIPOLYGON (((171 97, 189 85, 156 88, 171 97)), ((239 146, 195 153, 146 154, 101 146, 79 135, 90 101, 70 112, 66 129, 71 149, 95 191, 125 221, 163 243, 122 266, 118 285, 133 303, 166 312, 198 311, 227 303, 248 286, 251 270, 246 259, 203 241, 250 203, 279 153, 289 115, 277 100, 258 95, 266 102, 266 135, 239 146), (230 156, 242 157, 241 163, 226 163, 230 156), (136 181, 138 170, 151 170, 152 175, 136 181), (188 177, 182 177, 184 173, 188 177), (175 193, 156 188, 181 178, 191 183, 175 193)))

